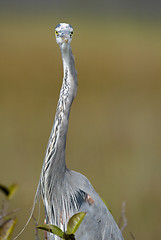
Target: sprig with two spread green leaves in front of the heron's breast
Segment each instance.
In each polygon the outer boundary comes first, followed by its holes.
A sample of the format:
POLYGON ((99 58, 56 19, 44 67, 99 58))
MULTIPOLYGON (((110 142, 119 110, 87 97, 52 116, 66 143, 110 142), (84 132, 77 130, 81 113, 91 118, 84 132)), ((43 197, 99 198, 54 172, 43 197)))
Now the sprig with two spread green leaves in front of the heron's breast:
POLYGON ((63 232, 59 227, 51 224, 42 224, 37 226, 37 228, 53 233, 65 240, 74 240, 75 239, 74 234, 79 228, 85 215, 86 215, 85 212, 80 212, 73 215, 68 221, 66 232, 63 232))

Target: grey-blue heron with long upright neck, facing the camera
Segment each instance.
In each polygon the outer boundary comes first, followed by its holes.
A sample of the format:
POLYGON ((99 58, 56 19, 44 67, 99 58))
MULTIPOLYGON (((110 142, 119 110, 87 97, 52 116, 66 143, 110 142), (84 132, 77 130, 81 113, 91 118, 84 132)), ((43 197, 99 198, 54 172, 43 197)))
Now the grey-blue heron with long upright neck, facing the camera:
MULTIPOLYGON (((77 71, 70 46, 72 26, 67 23, 58 24, 55 36, 61 50, 64 77, 37 194, 41 192, 47 223, 63 230, 66 230, 67 222, 73 214, 86 212, 75 234, 77 240, 123 240, 111 213, 89 180, 66 167, 69 113, 77 92, 77 71)), ((48 239, 59 237, 48 235, 48 239)))

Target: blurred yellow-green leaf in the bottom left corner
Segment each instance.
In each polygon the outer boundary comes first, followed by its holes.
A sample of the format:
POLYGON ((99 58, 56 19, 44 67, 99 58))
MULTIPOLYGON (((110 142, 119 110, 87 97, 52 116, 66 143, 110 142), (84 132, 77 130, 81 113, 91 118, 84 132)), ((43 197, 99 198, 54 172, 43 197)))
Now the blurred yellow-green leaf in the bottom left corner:
POLYGON ((0 239, 9 240, 16 224, 16 218, 10 218, 0 226, 0 239))

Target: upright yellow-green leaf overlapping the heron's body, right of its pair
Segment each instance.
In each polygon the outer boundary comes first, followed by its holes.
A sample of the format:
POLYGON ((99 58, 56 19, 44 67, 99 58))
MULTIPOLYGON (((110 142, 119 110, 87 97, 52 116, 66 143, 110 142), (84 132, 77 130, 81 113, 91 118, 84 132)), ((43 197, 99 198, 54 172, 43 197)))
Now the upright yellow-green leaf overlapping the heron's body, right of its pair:
POLYGON ((69 235, 74 234, 77 231, 85 215, 86 215, 85 212, 80 212, 80 213, 76 213, 69 219, 69 222, 67 225, 67 233, 69 235))

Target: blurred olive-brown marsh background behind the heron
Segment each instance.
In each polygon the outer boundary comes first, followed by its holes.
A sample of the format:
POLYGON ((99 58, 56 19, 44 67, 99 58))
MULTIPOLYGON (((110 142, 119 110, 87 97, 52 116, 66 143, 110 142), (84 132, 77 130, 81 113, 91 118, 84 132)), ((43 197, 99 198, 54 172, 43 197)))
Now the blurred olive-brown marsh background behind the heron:
MULTIPOLYGON (((54 28, 68 22, 79 88, 67 165, 88 177, 116 222, 126 202, 125 239, 161 239, 160 14, 159 1, 0 1, 0 183, 19 184, 15 235, 33 204, 62 83, 54 28)), ((19 239, 34 231, 31 220, 19 239)))

